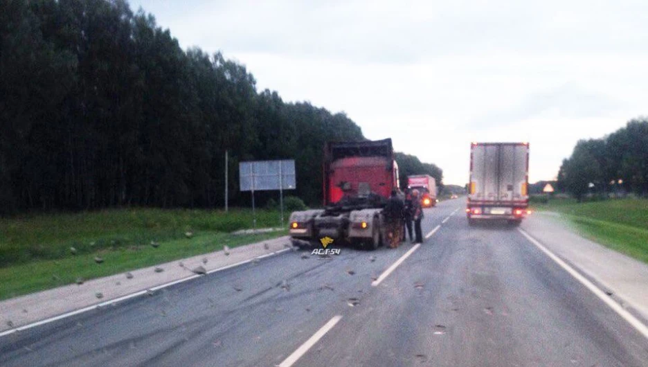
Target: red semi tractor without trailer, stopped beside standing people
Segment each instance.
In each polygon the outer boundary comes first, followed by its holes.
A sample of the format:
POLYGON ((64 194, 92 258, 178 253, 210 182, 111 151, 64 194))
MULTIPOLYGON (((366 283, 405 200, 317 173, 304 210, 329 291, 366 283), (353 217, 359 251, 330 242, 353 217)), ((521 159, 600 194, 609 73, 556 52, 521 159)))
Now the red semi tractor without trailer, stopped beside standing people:
POLYGON ((400 193, 391 139, 326 143, 324 209, 291 213, 293 244, 336 242, 376 249, 386 238, 383 209, 394 188, 400 193))

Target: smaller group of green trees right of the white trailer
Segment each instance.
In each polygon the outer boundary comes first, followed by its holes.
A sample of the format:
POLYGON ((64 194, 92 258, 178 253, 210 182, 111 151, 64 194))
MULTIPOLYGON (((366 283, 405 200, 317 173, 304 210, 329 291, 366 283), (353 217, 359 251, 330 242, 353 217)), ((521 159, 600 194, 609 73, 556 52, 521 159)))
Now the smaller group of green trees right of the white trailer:
POLYGON ((588 193, 648 195, 648 118, 599 139, 579 141, 558 172, 558 185, 577 199, 588 193))

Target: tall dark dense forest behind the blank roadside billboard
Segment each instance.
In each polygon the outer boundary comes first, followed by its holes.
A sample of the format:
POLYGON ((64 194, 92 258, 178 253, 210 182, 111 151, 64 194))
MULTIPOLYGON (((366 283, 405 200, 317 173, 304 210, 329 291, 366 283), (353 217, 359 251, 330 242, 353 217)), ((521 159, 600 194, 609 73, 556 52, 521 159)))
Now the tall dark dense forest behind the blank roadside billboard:
MULTIPOLYGON (((249 201, 239 161, 289 158, 294 195, 318 204, 323 143, 364 138, 345 114, 257 91, 221 53, 183 51, 125 0, 0 2, 0 131, 0 213, 219 207, 226 150, 232 204, 249 201)), ((403 177, 442 178, 398 157, 403 177)))

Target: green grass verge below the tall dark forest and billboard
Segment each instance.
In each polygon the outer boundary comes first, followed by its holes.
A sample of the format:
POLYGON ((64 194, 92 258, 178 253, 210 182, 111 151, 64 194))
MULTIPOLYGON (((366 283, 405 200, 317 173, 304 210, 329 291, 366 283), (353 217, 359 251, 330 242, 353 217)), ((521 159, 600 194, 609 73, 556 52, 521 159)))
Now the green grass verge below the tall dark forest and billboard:
MULTIPOLYGON (((279 214, 257 212, 257 227, 278 227, 279 214)), ((224 245, 285 235, 233 235, 252 227, 249 210, 112 209, 21 215, 0 220, 0 299, 156 265, 224 245), (188 238, 185 233, 192 232, 188 238), (159 242, 154 248, 150 242, 159 242), (70 247, 76 249, 73 254, 70 247), (94 262, 95 256, 104 259, 94 262)))

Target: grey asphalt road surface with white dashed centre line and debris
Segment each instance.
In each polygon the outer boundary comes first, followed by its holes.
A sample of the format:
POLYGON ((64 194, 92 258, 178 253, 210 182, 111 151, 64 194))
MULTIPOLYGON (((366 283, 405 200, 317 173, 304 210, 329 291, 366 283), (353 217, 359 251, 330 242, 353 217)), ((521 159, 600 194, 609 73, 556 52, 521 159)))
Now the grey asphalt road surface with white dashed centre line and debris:
POLYGON ((426 210, 419 247, 288 251, 10 334, 0 366, 648 366, 627 321, 464 205, 426 210))

